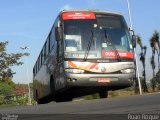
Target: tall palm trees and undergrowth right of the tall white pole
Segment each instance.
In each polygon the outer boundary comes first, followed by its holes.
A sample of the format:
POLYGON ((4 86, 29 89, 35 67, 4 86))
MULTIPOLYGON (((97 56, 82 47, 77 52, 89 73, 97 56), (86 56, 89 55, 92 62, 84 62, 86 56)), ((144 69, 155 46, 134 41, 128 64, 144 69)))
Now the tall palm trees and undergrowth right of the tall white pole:
MULTIPOLYGON (((151 38, 148 40, 150 43, 151 47, 151 53, 152 55, 150 56, 150 65, 152 67, 152 78, 150 80, 150 86, 152 88, 152 91, 155 92, 160 90, 159 88, 159 72, 160 72, 160 40, 159 40, 159 32, 154 31, 151 38), (155 60, 157 58, 157 61, 155 60)), ((147 53, 147 46, 143 46, 143 41, 139 35, 137 35, 137 43, 141 48, 141 52, 139 54, 139 60, 142 62, 143 66, 143 72, 142 72, 142 87, 143 87, 143 92, 150 92, 150 88, 147 88, 147 81, 146 81, 146 53, 147 53)), ((137 85, 137 84, 136 84, 137 85)), ((136 86, 138 87, 138 86, 136 86)), ((135 87, 135 88, 136 88, 135 87)))

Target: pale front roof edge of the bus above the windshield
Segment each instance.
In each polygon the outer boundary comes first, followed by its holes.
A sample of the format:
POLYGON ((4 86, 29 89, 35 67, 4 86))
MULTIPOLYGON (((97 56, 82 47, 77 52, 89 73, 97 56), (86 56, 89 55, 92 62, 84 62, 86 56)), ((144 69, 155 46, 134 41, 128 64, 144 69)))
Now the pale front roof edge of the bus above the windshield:
POLYGON ((105 10, 80 10, 80 9, 76 9, 76 10, 62 10, 61 13, 65 13, 65 12, 94 12, 94 13, 100 13, 100 14, 111 14, 111 15, 121 15, 121 13, 119 12, 111 12, 111 11, 105 11, 105 10))

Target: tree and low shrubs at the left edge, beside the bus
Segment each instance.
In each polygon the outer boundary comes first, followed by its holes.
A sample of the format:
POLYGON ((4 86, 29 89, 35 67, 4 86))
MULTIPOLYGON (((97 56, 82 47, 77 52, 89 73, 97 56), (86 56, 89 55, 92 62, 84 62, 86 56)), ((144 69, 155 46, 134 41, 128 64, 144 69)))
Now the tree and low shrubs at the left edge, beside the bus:
MULTIPOLYGON (((0 106, 26 105, 28 89, 21 88, 12 81, 13 66, 22 65, 20 58, 28 56, 28 53, 7 53, 8 42, 0 42, 0 106)), ((25 88, 25 87, 24 87, 25 88)))

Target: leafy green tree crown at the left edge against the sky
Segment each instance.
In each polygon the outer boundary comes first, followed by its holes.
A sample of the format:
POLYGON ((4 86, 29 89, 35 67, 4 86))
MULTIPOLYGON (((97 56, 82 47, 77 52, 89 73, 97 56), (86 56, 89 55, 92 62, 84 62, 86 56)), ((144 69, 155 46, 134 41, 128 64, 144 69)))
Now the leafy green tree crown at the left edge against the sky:
POLYGON ((12 78, 13 72, 11 67, 14 65, 22 65, 20 62, 20 58, 24 55, 28 55, 27 53, 7 53, 6 46, 8 42, 0 42, 0 81, 5 82, 8 78, 12 78))

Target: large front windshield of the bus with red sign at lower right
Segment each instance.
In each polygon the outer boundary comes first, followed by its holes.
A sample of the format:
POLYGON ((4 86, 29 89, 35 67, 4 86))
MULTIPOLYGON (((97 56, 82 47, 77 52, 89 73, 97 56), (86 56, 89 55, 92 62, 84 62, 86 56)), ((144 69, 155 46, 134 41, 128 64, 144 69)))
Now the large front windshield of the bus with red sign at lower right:
POLYGON ((91 42, 87 59, 115 58, 113 45, 120 57, 131 57, 132 45, 122 16, 96 15, 96 19, 64 21, 65 58, 84 58, 91 42), (112 42, 112 43, 111 43, 112 42))

